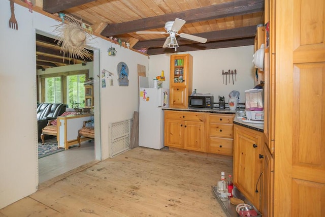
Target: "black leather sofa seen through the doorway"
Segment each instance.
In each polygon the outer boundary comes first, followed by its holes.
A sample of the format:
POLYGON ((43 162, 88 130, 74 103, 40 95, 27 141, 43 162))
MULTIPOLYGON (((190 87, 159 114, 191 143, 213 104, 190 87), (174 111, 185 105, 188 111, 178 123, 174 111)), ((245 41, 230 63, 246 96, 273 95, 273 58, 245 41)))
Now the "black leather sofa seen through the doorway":
POLYGON ((37 134, 41 139, 42 129, 47 125, 50 119, 56 119, 66 111, 67 105, 63 103, 41 103, 37 106, 37 134))

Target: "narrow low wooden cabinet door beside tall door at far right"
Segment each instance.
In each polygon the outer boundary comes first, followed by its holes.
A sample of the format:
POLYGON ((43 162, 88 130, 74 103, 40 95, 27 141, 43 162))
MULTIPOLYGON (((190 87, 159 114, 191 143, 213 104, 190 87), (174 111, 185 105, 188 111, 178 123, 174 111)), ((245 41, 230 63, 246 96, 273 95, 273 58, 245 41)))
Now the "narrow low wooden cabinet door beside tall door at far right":
POLYGON ((264 163, 263 163, 263 216, 273 216, 273 187, 274 187, 274 159, 269 151, 267 143, 265 143, 264 150, 264 163))

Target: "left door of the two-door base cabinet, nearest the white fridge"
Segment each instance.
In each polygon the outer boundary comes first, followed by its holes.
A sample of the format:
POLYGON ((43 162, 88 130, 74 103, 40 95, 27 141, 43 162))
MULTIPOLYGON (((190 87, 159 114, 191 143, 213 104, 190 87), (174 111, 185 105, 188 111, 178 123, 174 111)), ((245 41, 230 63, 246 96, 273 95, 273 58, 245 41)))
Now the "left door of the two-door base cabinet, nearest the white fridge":
POLYGON ((184 121, 165 119, 165 146, 183 148, 184 121))

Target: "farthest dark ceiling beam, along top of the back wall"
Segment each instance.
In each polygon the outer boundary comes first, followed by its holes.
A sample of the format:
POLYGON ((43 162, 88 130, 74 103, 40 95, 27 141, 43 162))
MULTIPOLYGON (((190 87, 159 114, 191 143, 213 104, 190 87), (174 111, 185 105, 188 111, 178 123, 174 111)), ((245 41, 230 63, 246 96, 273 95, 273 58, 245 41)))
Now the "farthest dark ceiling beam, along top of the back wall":
MULTIPOLYGON (((235 39, 235 40, 225 40, 218 42, 210 42, 205 44, 189 44, 182 45, 177 48, 177 52, 187 52, 195 50, 208 50, 217 48, 227 48, 227 47, 240 47, 254 44, 254 37, 246 39, 235 39)), ((175 53, 175 49, 172 48, 149 48, 147 51, 148 55, 157 55, 162 53, 175 53)))

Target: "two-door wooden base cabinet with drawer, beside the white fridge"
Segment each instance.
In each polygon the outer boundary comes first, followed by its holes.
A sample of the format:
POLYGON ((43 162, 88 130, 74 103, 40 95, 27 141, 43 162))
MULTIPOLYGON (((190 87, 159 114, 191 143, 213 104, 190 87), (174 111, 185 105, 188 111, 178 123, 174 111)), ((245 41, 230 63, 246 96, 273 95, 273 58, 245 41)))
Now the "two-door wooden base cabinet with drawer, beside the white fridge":
POLYGON ((205 115, 165 110, 165 146, 205 152, 205 115))

